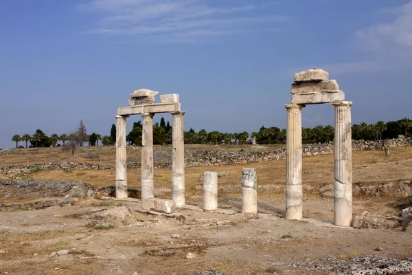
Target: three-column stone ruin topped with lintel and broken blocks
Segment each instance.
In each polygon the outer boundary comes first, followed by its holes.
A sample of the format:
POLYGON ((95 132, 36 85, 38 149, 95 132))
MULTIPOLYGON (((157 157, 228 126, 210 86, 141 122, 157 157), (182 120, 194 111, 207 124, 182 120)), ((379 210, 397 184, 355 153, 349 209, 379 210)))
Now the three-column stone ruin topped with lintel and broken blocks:
MULTIPOLYGON (((161 201, 153 201, 153 116, 156 113, 171 113, 173 117, 172 133, 172 201, 176 206, 185 205, 185 147, 183 140, 183 115, 178 94, 160 96, 160 103, 155 103, 159 92, 137 89, 130 94, 129 106, 119 107, 116 115, 116 198, 128 197, 127 156, 126 156, 126 118, 141 115, 143 135, 141 139, 141 199, 145 206, 154 206, 161 201), (149 201, 144 201, 144 200, 149 201)), ((170 206, 173 208, 175 206, 170 206)), ((169 209, 169 207, 168 207, 169 209)))

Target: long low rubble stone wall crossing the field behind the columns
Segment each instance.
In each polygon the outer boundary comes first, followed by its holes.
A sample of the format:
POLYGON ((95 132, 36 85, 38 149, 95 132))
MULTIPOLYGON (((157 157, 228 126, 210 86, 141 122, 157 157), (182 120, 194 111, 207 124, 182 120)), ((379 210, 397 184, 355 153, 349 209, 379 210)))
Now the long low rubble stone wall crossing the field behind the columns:
MULTIPOLYGON (((354 141, 352 142, 353 151, 363 150, 382 150, 385 146, 411 146, 412 139, 408 137, 402 140, 380 140, 374 141, 354 141)), ((251 147, 253 148, 253 147, 251 147)), ((334 151, 334 144, 314 144, 303 147, 303 155, 325 155, 334 151)), ((219 166, 229 164, 247 164, 253 162, 268 162, 276 159, 286 158, 286 148, 277 148, 271 151, 254 151, 254 150, 199 150, 187 148, 185 150, 186 167, 193 166, 219 166)), ((172 167, 172 151, 170 147, 161 148, 154 152, 154 162, 156 168, 172 167)), ((113 160, 114 162, 114 160, 113 160)), ((136 157, 128 158, 129 169, 139 169, 141 166, 139 159, 136 157)), ((90 170, 90 169, 114 169, 114 164, 97 164, 92 162, 76 163, 48 163, 48 164, 31 164, 27 166, 0 166, 0 175, 18 175, 41 170, 90 170)))

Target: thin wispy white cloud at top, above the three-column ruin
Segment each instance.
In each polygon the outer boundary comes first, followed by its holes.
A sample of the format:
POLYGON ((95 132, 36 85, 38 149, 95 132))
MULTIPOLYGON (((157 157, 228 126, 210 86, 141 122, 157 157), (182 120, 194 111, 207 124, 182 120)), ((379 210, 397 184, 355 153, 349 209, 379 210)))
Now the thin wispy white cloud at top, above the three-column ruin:
MULTIPOLYGON (((274 30, 279 15, 251 16, 258 5, 208 5, 206 0, 93 0, 78 5, 80 12, 93 12, 98 20, 90 34, 145 39, 148 42, 198 43, 205 37, 274 30)), ((215 2, 216 3, 216 2, 215 2)), ((125 40, 127 41, 127 40, 125 40)))

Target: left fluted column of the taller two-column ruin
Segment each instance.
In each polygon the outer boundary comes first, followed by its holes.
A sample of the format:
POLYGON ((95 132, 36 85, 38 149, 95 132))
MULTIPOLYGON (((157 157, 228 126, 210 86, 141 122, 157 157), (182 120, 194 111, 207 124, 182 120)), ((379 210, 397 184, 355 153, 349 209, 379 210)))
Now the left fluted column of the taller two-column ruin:
POLYGON ((286 219, 302 219, 302 104, 286 104, 286 219))

